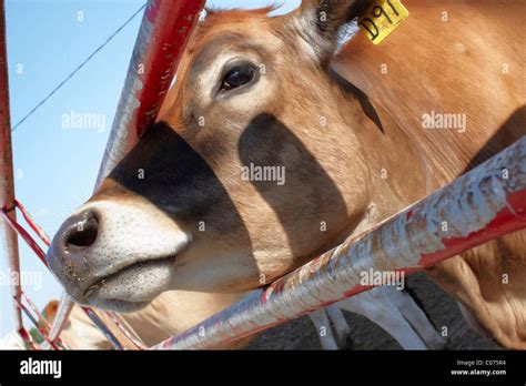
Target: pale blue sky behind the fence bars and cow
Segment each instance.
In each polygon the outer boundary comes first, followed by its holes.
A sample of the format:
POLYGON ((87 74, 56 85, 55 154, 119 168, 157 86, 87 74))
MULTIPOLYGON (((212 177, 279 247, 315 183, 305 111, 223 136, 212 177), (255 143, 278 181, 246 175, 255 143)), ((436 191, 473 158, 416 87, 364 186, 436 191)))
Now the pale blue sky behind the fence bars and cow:
MULTIPOLYGON (((259 8, 270 0, 209 0, 221 8, 259 8)), ((7 0, 7 35, 11 123, 18 123, 37 103, 85 60, 144 1, 139 0, 7 0)), ((289 12, 300 0, 283 0, 289 12)), ((139 30, 139 14, 42 108, 13 133, 18 200, 49 235, 92 193, 102 153, 124 82, 139 30), (64 128, 71 113, 97 114, 91 129, 64 128)), ((61 287, 22 240, 20 262, 24 286, 43 307, 59 298, 61 287)), ((0 272, 7 272, 3 245, 0 272)), ((14 327, 10 287, 0 282, 0 336, 14 327)), ((30 323, 26 325, 30 327, 30 323)))

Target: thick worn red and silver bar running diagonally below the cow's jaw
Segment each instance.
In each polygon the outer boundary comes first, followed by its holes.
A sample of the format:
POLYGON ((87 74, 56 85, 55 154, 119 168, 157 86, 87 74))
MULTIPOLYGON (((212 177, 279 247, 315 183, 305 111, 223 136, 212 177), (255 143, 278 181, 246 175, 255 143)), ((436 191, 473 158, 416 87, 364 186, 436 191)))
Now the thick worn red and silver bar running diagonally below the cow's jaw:
POLYGON ((364 272, 407 274, 526 227, 526 136, 426 199, 153 349, 210 348, 372 288, 364 272), (446 224, 446 231, 444 231, 446 224))

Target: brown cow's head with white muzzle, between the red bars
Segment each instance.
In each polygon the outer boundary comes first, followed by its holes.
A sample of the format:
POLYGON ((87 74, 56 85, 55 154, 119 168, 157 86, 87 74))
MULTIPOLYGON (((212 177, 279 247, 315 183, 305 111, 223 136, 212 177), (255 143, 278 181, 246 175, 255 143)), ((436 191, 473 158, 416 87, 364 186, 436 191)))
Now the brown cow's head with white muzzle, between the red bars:
POLYGON ((78 302, 252 290, 356 226, 363 112, 328 72, 352 4, 208 16, 158 123, 53 240, 50 266, 78 302))

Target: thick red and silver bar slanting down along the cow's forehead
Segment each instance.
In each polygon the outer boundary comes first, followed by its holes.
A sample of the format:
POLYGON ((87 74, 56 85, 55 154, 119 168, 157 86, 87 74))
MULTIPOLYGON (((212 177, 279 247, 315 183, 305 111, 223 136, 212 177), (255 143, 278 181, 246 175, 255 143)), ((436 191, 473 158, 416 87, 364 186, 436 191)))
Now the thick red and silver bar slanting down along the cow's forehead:
MULTIPOLYGON (((148 2, 95 189, 154 123, 204 3, 205 0, 148 2)), ((53 324, 52 332, 57 335, 71 312, 71 305, 62 304, 67 299, 68 296, 62 297, 60 308, 64 312, 57 315, 57 327, 53 324)), ((119 328, 125 326, 120 324, 119 328)))

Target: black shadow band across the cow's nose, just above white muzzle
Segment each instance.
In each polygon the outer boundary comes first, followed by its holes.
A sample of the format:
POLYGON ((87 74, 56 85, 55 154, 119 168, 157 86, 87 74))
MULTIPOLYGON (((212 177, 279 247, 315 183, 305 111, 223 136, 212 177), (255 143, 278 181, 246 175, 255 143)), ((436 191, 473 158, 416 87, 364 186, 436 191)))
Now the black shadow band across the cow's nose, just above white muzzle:
MULTIPOLYGON (((208 148, 213 156, 213 149, 208 148)), ((222 232, 250 237, 222 182, 204 159, 164 122, 153 125, 110 173, 117 192, 102 189, 94 200, 119 197, 121 189, 148 199, 184 228, 194 233, 199 222, 222 232), (140 174, 143 173, 143 177, 140 174)), ((210 230, 212 231, 212 230, 210 230)))

